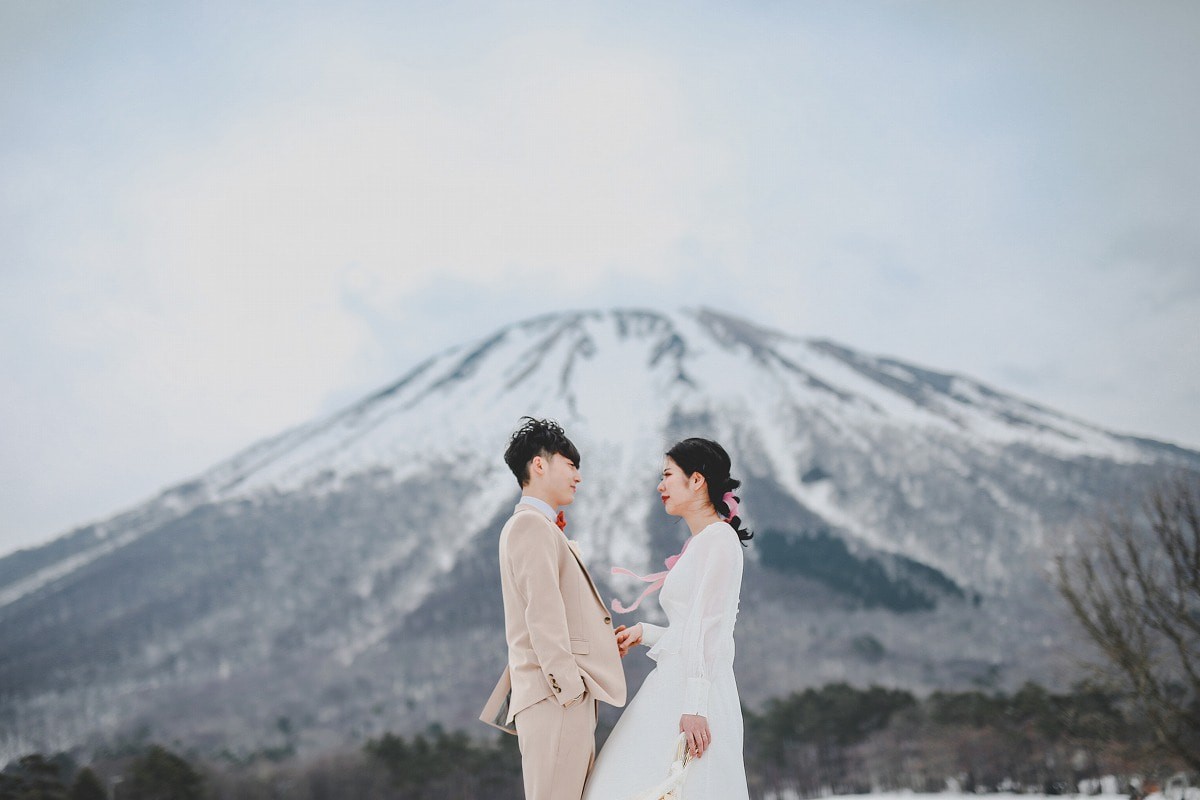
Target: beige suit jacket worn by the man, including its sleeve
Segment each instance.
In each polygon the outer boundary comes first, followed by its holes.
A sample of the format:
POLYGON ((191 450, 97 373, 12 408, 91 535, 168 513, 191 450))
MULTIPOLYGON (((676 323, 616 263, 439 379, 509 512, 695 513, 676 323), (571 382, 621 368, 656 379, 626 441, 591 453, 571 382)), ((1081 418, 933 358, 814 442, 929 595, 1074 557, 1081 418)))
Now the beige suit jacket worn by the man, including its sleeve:
POLYGON ((566 705, 584 691, 625 704, 612 615, 566 537, 530 506, 517 506, 500 531, 500 590, 509 666, 480 720, 515 733, 518 711, 547 697, 566 705))

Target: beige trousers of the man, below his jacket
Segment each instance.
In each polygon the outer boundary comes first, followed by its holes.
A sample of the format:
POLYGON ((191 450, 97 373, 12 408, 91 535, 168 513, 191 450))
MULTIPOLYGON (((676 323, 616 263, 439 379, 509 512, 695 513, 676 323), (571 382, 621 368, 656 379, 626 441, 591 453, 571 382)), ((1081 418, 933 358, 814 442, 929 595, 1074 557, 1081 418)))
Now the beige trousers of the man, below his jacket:
POLYGON ((596 702, 569 709, 552 697, 517 712, 526 800, 578 800, 596 750, 596 702))

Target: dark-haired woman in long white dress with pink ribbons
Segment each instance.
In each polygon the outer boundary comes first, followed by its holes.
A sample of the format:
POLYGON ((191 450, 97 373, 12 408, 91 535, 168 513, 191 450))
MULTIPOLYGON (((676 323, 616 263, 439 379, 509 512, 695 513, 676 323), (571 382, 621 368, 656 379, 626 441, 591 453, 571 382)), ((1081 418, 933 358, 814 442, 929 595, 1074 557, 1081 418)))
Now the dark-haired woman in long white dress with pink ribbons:
POLYGON ((667 513, 688 523, 691 537, 667 560, 659 596, 667 626, 640 622, 618 633, 622 652, 644 644, 658 666, 608 736, 584 800, 628 800, 661 781, 680 732, 696 758, 684 784, 688 800, 749 798, 733 622, 742 590, 739 540, 754 534, 739 528, 738 486, 728 453, 715 441, 685 439, 666 453, 659 495, 667 513))

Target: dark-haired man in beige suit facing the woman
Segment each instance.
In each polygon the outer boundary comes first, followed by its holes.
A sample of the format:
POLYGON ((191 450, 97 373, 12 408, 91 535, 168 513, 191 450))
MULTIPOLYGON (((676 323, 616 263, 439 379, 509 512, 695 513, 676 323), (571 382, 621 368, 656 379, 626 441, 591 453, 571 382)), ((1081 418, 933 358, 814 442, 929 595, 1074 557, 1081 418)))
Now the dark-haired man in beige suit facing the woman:
POLYGON ((575 500, 580 451, 558 423, 523 417, 504 462, 522 494, 500 531, 509 666, 479 718, 517 734, 526 800, 574 800, 595 754, 596 700, 625 704, 612 616, 558 511, 575 500))

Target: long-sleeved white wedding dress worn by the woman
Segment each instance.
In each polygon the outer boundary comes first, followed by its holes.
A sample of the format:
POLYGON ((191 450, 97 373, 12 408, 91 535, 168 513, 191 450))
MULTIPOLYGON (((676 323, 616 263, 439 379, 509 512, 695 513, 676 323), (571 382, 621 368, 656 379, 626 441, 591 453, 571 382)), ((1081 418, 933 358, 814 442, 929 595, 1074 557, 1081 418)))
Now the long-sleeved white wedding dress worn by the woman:
POLYGON ((728 523, 713 523, 688 542, 662 585, 667 627, 642 622, 642 644, 658 666, 600 751, 583 800, 630 800, 662 781, 683 714, 707 717, 713 736, 688 768, 683 800, 749 798, 733 680, 740 591, 742 543, 728 523))

